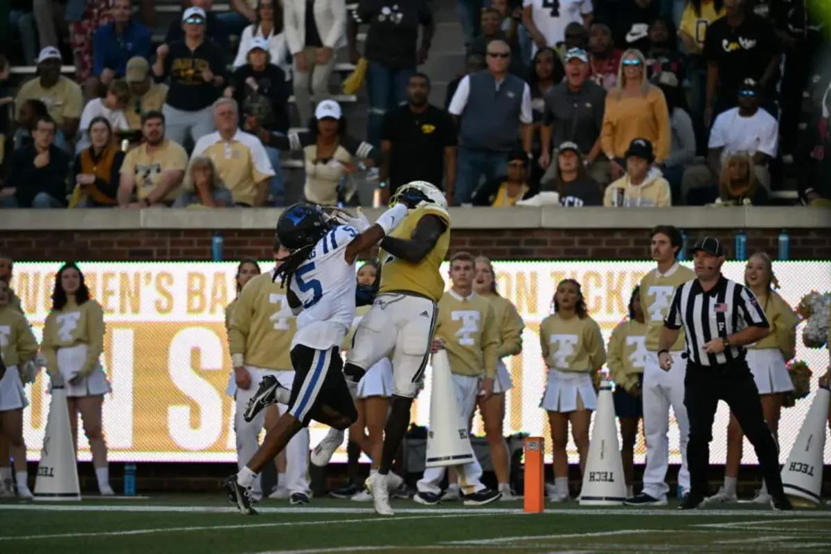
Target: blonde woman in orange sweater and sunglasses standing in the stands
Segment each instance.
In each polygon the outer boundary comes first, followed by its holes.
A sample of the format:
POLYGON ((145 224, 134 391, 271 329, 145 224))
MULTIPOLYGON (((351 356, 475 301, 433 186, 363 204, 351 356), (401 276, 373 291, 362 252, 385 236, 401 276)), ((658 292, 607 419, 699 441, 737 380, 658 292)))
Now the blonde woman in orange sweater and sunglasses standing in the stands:
POLYGON ((670 154, 670 116, 666 100, 657 86, 647 81, 643 54, 637 50, 623 52, 617 86, 606 96, 600 144, 609 159, 612 179, 623 172, 622 156, 632 140, 647 139, 656 150, 661 164, 670 154))

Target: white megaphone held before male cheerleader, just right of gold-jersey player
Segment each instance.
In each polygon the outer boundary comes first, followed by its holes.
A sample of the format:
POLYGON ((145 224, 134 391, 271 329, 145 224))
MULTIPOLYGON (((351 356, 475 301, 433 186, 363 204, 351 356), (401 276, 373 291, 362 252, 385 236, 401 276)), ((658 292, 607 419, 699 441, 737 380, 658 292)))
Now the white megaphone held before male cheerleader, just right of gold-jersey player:
POLYGON ((474 461, 468 422, 462 419, 456 400, 447 352, 433 355, 433 388, 430 391, 430 427, 427 433, 428 468, 462 465, 474 461))

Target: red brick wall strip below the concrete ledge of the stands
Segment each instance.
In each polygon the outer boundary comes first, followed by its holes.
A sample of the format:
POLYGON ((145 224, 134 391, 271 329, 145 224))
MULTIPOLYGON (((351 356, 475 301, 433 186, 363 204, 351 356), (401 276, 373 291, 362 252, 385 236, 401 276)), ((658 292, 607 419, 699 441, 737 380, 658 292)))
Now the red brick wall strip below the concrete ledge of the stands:
MULTIPOLYGON (((733 254, 733 231, 689 229, 691 238, 715 235, 733 254)), ((7 231, 0 232, 0 252, 19 261, 208 260, 209 230, 7 231)), ((226 259, 266 257, 273 241, 267 229, 223 231, 226 259)), ((642 259, 647 257, 646 229, 465 229, 455 231, 452 251, 469 250, 494 259, 642 259)), ((778 229, 747 231, 747 251, 776 253, 778 229)), ((791 259, 831 259, 828 229, 794 229, 791 259)))

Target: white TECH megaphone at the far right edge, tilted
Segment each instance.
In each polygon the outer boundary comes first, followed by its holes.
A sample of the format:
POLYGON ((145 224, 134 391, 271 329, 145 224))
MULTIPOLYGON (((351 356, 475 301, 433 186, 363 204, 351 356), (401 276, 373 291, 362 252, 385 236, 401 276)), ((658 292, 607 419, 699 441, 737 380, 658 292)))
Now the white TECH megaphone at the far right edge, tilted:
POLYGON ((827 387, 820 386, 790 449, 788 461, 782 467, 784 493, 794 506, 814 507, 820 503, 829 399, 831 392, 827 387))

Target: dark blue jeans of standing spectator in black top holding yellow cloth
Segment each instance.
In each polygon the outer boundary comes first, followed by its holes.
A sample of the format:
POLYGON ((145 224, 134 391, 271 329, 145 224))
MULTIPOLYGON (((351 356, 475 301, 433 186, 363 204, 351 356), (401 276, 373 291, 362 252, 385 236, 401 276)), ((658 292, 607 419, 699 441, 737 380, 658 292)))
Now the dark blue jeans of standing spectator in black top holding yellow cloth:
POLYGON ((407 100, 407 81, 416 73, 414 66, 393 69, 376 61, 369 62, 366 71, 366 92, 369 96, 369 120, 366 142, 379 148, 384 115, 407 100))

